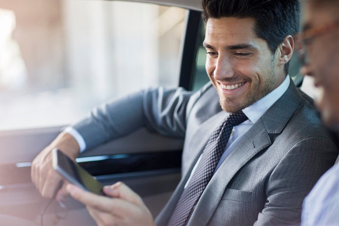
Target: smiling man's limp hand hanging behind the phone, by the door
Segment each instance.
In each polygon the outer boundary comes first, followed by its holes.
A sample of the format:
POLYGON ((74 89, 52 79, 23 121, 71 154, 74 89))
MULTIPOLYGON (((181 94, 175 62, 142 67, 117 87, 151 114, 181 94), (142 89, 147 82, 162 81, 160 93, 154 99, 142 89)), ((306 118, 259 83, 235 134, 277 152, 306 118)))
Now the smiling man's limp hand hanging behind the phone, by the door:
MULTIPOLYGON (((62 182, 62 178, 52 167, 52 150, 55 147, 58 147, 71 159, 76 159, 80 149, 78 142, 71 135, 63 132, 35 157, 31 167, 31 179, 45 198, 52 198, 56 191, 60 189, 60 183, 62 182)), ((64 183, 58 194, 56 194, 58 201, 62 201, 68 195, 66 185, 64 183)))

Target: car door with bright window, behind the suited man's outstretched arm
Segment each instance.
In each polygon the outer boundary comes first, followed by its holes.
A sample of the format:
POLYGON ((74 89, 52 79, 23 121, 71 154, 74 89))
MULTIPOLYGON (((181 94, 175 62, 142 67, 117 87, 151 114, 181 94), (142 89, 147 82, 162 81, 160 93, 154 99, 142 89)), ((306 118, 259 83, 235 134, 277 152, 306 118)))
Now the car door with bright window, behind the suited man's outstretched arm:
MULTIPOLYGON (((0 57, 0 214, 40 223, 61 214, 60 225, 92 225, 80 203, 67 199, 66 211, 40 196, 30 179, 34 157, 111 98, 155 85, 192 89, 200 1, 191 9, 154 2, 0 1, 7 40, 0 51, 7 55, 0 57)), ((103 184, 125 182, 156 216, 180 179, 182 145, 140 129, 77 161, 103 184)))

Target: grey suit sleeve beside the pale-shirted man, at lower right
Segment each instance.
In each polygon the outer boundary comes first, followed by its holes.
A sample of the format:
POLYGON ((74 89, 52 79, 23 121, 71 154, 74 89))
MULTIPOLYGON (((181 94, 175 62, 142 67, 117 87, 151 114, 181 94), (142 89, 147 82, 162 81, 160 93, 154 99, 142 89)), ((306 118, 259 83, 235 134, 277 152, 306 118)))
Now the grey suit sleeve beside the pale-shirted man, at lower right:
POLYGON ((333 165, 337 148, 324 137, 296 143, 267 181, 267 200, 254 225, 300 225, 304 197, 333 165))

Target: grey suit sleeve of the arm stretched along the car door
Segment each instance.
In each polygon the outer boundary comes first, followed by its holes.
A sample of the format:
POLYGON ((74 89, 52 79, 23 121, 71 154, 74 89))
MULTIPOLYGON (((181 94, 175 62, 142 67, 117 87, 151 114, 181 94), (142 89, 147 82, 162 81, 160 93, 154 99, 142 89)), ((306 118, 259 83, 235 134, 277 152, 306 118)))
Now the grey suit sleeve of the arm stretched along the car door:
POLYGON ((192 92, 163 87, 134 93, 94 108, 72 125, 84 138, 86 149, 122 137, 141 127, 165 136, 183 138, 186 110, 192 92))

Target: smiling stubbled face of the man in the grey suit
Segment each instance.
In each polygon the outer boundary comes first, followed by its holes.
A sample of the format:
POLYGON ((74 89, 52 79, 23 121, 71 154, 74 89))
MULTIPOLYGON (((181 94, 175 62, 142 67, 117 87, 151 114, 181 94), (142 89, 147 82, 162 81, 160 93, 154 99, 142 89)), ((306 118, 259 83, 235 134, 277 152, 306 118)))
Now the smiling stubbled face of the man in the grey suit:
POLYGON ((206 23, 206 71, 223 110, 236 112, 266 96, 284 81, 276 54, 253 31, 254 19, 221 17, 206 23))

